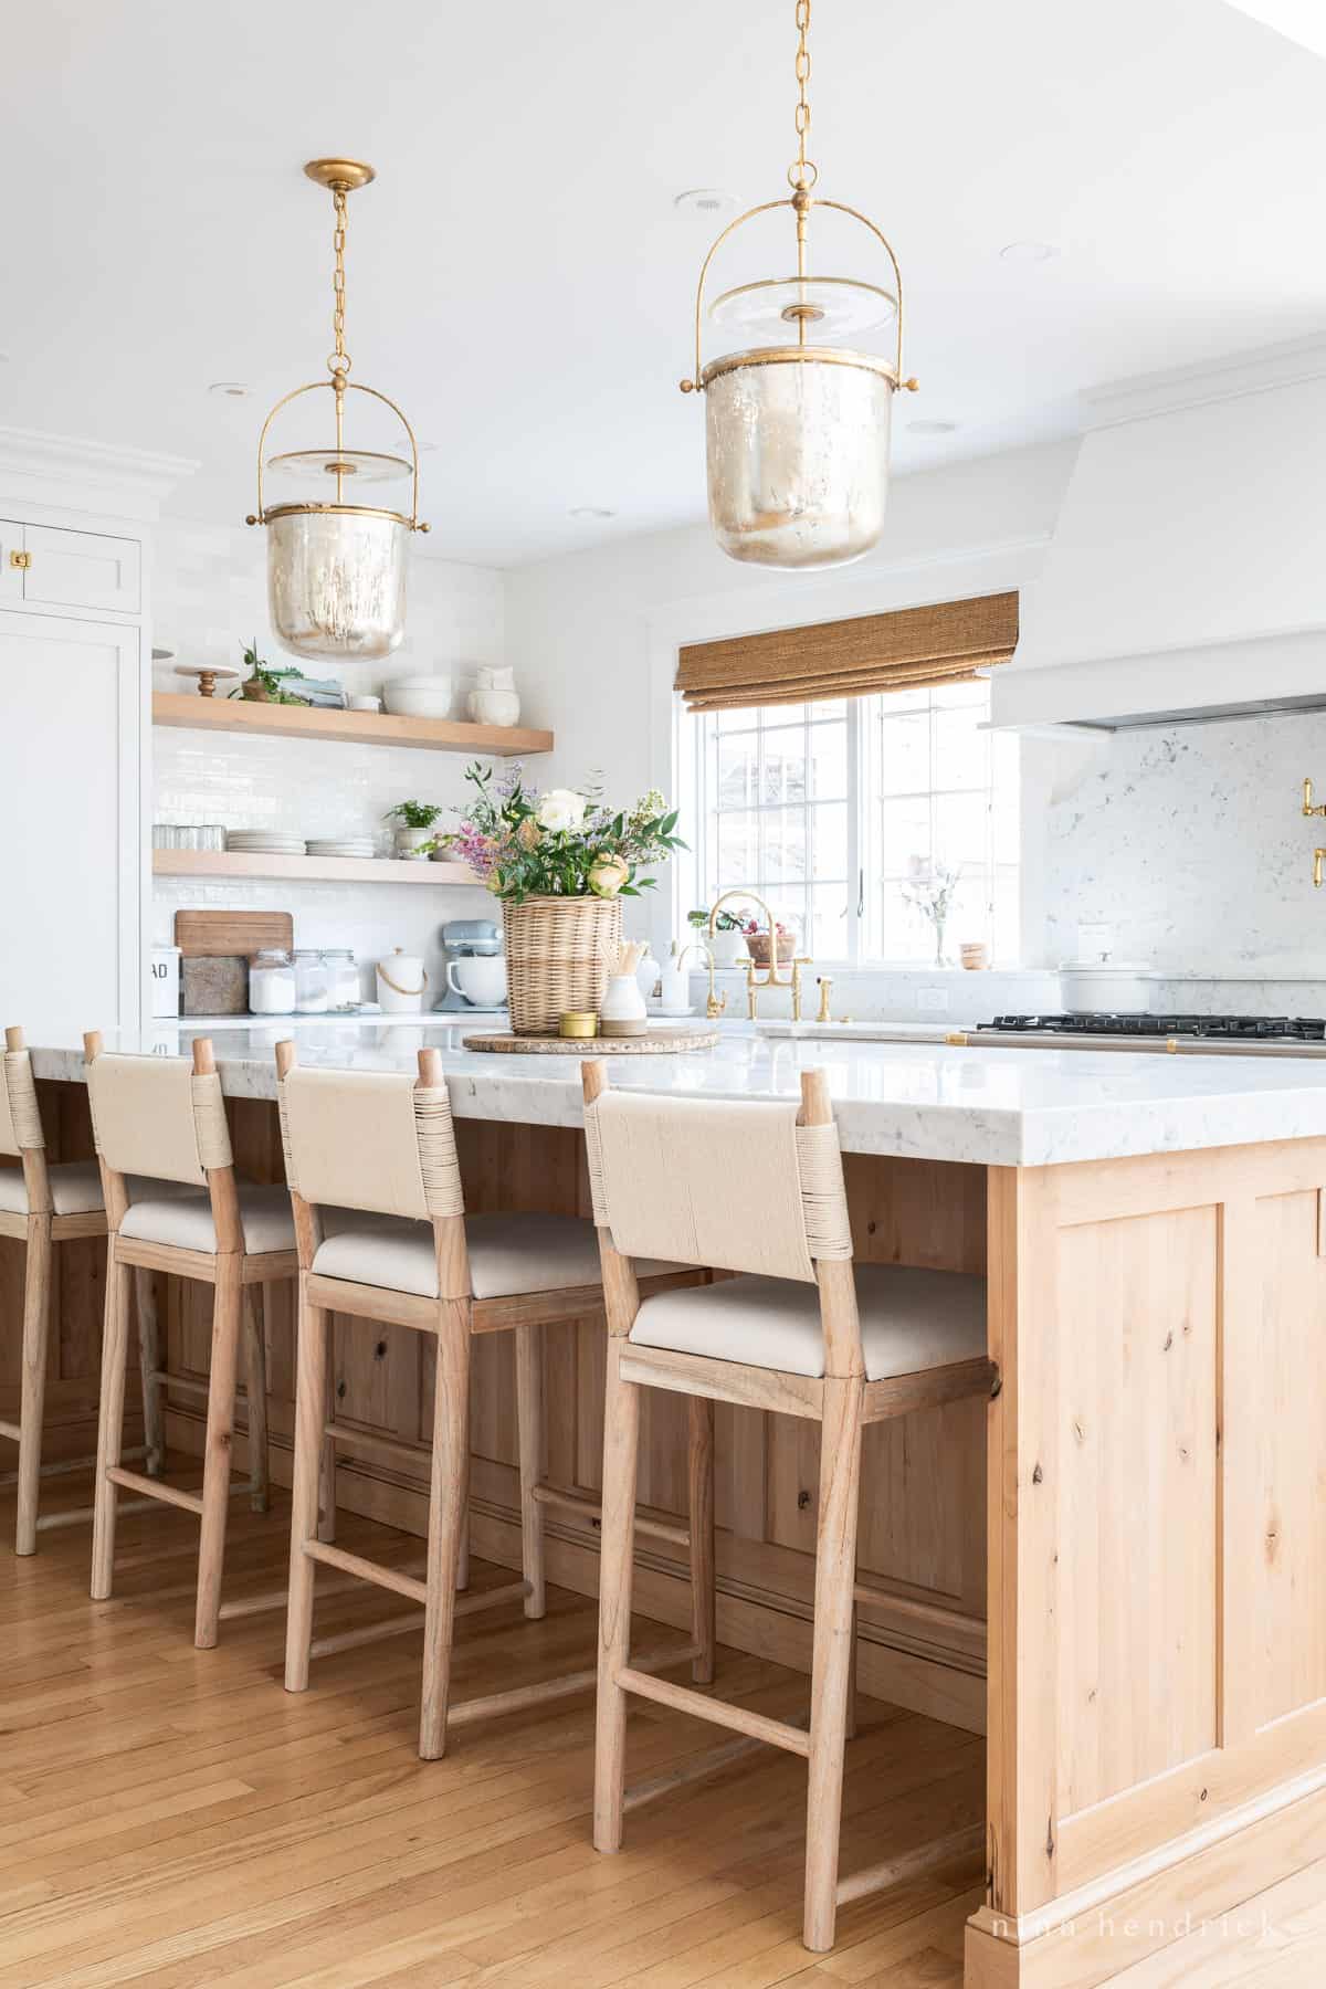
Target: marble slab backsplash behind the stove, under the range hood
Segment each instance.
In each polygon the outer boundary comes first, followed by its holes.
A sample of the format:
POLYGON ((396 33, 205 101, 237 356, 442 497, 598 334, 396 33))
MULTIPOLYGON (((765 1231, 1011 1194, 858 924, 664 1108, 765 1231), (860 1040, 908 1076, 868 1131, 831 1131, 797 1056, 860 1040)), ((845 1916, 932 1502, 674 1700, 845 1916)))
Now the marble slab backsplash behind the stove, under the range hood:
MULTIPOLYGON (((1254 688, 1254 686, 1252 686, 1254 688)), ((1109 925, 1115 959, 1173 977, 1241 979, 1233 1006, 1322 1012, 1326 891, 1300 814, 1304 774, 1326 794, 1326 712, 1117 732, 1044 812, 1046 959, 1077 957, 1109 925), (1308 987, 1316 983, 1316 993, 1308 987)), ((1028 833, 1034 833, 1028 825, 1028 833)))

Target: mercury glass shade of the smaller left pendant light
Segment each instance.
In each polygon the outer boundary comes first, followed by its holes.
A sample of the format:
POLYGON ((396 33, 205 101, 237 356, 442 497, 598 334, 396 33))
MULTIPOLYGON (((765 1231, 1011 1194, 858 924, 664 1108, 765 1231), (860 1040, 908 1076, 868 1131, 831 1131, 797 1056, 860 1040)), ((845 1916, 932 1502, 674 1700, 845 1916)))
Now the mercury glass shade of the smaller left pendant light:
POLYGON ((374 662, 406 634, 410 519, 280 505, 266 513, 272 629, 296 656, 374 662))

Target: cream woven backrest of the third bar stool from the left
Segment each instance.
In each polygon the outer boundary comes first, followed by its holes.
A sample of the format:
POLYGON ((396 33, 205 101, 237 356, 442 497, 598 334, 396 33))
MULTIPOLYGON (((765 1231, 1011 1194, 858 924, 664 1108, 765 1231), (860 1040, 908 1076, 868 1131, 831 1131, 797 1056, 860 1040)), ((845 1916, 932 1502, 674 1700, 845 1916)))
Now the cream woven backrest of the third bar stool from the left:
POLYGON ((396 1070, 292 1064, 278 1100, 286 1181, 310 1205, 415 1221, 465 1213, 451 1100, 439 1078, 423 1084, 396 1070))

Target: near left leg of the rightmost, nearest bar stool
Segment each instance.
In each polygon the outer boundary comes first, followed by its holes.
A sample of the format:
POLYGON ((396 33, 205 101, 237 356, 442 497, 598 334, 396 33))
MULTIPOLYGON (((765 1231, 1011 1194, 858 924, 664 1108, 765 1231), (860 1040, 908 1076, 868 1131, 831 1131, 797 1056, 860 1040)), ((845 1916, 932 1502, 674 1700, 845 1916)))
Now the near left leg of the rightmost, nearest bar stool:
POLYGON ((640 1390, 622 1380, 622 1337, 608 1339, 602 1426, 602 1547, 598 1557, 598 1699, 594 1707, 594 1850, 622 1848, 626 1693, 616 1675, 630 1661, 630 1583, 636 1534, 640 1390))

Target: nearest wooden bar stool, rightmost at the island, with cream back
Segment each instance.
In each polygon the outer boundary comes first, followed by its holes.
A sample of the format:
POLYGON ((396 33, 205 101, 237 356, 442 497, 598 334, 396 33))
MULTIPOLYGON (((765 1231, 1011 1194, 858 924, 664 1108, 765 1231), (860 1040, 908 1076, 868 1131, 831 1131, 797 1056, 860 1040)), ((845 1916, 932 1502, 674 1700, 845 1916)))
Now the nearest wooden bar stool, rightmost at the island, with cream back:
MULTIPOLYGON (((612 1092, 586 1062, 584 1138, 608 1301, 608 1394, 598 1583, 594 1844, 616 1852, 626 1697, 736 1728, 809 1762, 805 1945, 833 1945, 837 1905, 897 1884, 899 1860, 839 1882, 849 1730, 861 1430, 990 1394, 986 1281, 954 1271, 853 1267, 837 1128, 823 1072, 801 1076, 801 1110, 612 1092), (636 1261, 664 1253, 736 1271, 650 1297, 636 1261), (630 1659, 630 1581, 640 1388, 769 1408, 819 1422, 819 1518, 809 1732, 646 1675, 630 1659)), ((869 1593, 869 1591, 863 1591, 869 1593)), ((732 1758, 732 1744, 720 1750, 732 1758)), ((688 1778, 708 1772, 704 1758, 688 1778)), ((676 1780, 676 1778, 674 1778, 676 1780)), ((907 1874, 984 1842, 984 1828, 920 1846, 907 1874)))

